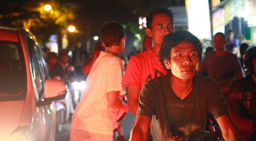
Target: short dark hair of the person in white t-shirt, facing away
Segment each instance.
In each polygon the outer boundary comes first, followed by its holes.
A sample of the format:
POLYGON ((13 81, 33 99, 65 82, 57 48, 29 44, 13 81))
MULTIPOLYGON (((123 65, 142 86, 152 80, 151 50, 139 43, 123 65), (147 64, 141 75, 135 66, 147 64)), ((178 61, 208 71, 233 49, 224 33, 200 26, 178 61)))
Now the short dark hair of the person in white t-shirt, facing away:
POLYGON ((104 22, 100 27, 100 38, 106 47, 119 45, 124 36, 123 26, 117 21, 104 22))

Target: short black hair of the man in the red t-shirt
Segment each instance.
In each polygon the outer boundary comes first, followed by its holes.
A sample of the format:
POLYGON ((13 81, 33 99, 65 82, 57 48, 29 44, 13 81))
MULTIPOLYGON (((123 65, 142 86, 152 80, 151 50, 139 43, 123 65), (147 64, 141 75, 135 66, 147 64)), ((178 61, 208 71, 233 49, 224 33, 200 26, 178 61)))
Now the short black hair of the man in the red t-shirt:
POLYGON ((152 20, 153 20, 153 15, 159 14, 159 13, 164 13, 168 15, 172 20, 174 20, 174 14, 172 10, 169 10, 167 8, 157 8, 153 9, 150 14, 146 16, 146 27, 148 29, 152 30, 152 20))

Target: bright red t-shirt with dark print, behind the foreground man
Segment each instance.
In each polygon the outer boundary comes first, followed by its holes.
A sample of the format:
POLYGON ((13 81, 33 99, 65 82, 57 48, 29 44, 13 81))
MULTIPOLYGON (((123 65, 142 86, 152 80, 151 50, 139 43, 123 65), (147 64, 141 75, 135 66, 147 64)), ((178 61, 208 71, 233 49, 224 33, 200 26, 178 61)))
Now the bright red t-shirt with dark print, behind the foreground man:
POLYGON ((122 85, 128 87, 129 84, 142 88, 146 81, 167 74, 159 58, 148 49, 130 59, 125 69, 122 85))

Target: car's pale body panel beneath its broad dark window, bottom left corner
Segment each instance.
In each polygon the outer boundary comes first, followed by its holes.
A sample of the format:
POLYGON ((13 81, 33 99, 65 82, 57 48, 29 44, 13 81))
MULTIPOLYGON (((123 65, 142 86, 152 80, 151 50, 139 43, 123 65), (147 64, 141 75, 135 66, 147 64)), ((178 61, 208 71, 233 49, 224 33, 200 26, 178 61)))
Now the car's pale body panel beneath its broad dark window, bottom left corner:
POLYGON ((24 100, 0 102, 0 138, 6 138, 19 126, 24 103, 24 100))

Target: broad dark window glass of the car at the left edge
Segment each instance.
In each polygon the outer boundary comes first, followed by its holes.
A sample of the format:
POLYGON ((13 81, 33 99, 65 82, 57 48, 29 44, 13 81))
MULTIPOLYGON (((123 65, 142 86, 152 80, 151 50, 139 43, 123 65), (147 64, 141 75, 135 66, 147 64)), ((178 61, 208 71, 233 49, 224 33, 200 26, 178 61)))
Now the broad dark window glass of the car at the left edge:
POLYGON ((25 89, 26 71, 22 47, 16 42, 0 41, 0 99, 23 97, 25 89))

